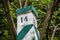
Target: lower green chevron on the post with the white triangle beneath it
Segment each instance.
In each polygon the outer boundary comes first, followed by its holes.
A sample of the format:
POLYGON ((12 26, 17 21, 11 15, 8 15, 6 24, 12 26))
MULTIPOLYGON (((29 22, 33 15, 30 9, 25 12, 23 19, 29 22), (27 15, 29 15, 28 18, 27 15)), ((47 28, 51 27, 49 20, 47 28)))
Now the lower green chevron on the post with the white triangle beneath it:
POLYGON ((17 40, 32 40, 35 37, 35 40, 40 40, 39 33, 37 28, 33 25, 26 25, 17 36, 17 40))

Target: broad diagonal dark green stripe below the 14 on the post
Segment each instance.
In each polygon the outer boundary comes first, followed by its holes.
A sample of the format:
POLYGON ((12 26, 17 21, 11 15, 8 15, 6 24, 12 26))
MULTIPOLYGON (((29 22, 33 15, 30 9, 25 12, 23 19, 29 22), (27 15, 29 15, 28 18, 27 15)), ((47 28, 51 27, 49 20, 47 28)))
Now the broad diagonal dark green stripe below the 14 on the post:
POLYGON ((17 40, 22 40, 27 32, 32 28, 33 24, 26 25, 17 35, 17 40))

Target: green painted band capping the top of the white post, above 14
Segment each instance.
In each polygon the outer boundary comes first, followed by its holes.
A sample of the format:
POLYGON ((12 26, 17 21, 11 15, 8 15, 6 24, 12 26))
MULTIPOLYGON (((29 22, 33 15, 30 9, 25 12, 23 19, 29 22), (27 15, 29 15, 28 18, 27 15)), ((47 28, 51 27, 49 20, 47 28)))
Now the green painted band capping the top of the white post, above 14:
POLYGON ((36 17, 38 16, 38 13, 35 10, 35 8, 33 7, 33 5, 23 7, 23 8, 19 8, 19 9, 16 10, 16 13, 17 14, 23 14, 23 13, 28 12, 28 11, 33 12, 36 17))

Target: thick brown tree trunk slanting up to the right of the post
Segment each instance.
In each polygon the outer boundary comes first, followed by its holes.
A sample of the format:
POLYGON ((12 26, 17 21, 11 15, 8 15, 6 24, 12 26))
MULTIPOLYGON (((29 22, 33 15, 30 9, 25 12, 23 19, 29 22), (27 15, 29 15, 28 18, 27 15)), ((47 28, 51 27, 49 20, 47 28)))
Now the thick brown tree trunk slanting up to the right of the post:
POLYGON ((51 18, 51 15, 53 13, 53 10, 54 10, 56 4, 57 4, 57 0, 53 0, 51 5, 48 5, 47 14, 46 14, 45 20, 42 24, 42 30, 40 31, 41 40, 43 40, 43 38, 44 38, 44 33, 46 32, 47 24, 51 18))

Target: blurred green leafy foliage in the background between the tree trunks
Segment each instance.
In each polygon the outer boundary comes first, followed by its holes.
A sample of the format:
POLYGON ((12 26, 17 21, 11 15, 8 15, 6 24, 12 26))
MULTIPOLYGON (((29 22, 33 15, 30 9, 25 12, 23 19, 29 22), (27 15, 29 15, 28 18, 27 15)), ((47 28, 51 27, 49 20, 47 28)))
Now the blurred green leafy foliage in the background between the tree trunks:
MULTIPOLYGON (((38 12, 38 17, 37 17, 37 21, 38 21, 38 25, 39 25, 39 30, 42 28, 42 23, 45 19, 46 13, 47 13, 47 9, 48 9, 48 5, 50 5, 52 0, 30 0, 28 2, 28 5, 33 5, 36 9, 36 11, 38 12)), ((1 2, 1 1, 0 1, 1 2)), ((25 0, 22 0, 22 3, 24 4, 25 0)), ((15 5, 19 8, 19 3, 18 0, 14 0, 12 2, 10 2, 10 11, 12 13, 14 22, 16 24, 17 22, 17 15, 16 15, 16 8, 13 7, 12 5, 15 5)), ((58 23, 60 23, 60 3, 58 4, 58 10, 55 10, 53 12, 53 16, 51 18, 51 22, 54 25, 57 25, 58 23)), ((12 40, 12 35, 11 35, 11 31, 10 31, 10 27, 8 25, 8 20, 7 20, 7 14, 5 13, 5 9, 3 8, 2 3, 0 4, 0 40, 12 40)), ((50 24, 52 24, 50 23, 50 24)), ((50 25, 52 26, 52 25, 50 25)), ((49 27, 50 27, 49 26, 49 27)), ((59 26, 60 28, 60 26, 59 26)), ((46 34, 46 33, 45 33, 46 34)), ((60 31, 55 34, 54 40, 60 40, 60 31)), ((44 37, 46 39, 46 36, 44 37)))

